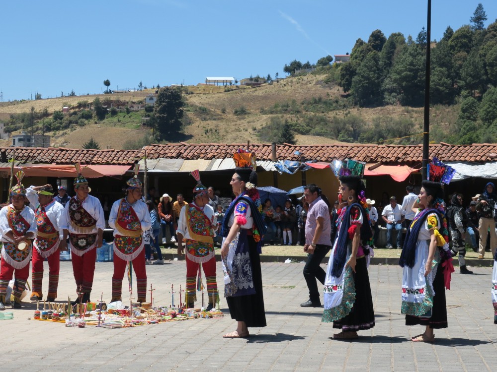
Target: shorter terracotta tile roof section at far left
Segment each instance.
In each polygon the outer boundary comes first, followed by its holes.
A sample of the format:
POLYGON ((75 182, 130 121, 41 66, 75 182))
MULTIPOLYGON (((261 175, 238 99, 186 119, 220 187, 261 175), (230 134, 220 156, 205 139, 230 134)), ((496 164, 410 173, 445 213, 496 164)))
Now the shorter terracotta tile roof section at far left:
POLYGON ((111 164, 131 165, 135 161, 136 150, 86 150, 62 147, 0 147, 10 160, 15 151, 15 160, 43 164, 111 164))

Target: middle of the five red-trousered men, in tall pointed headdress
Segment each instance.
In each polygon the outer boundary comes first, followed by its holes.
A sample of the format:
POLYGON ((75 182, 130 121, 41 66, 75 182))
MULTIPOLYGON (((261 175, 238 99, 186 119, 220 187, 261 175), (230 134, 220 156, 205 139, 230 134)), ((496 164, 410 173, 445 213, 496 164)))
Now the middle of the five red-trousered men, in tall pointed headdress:
POLYGON ((93 274, 95 273, 96 248, 102 246, 105 219, 100 201, 88 195, 88 181, 82 176, 80 165, 76 164, 78 177, 74 180, 74 195, 66 204, 61 228, 64 231, 60 247, 66 250, 69 235, 71 260, 76 281, 76 292, 83 293, 73 305, 90 301, 93 274))

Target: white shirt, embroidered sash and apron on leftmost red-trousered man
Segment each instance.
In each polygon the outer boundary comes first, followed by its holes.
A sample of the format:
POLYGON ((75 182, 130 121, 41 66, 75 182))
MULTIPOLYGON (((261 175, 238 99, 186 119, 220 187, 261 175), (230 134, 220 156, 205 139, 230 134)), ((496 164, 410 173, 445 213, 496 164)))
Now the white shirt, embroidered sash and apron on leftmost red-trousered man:
POLYGON ((0 210, 0 229, 0 241, 3 243, 1 249, 2 258, 13 268, 22 269, 31 260, 31 240, 26 241, 28 244, 26 249, 19 250, 6 234, 12 231, 14 236, 22 236, 28 233, 33 233, 33 236, 36 235, 33 210, 24 207, 20 212, 17 212, 12 204, 3 207, 0 210))

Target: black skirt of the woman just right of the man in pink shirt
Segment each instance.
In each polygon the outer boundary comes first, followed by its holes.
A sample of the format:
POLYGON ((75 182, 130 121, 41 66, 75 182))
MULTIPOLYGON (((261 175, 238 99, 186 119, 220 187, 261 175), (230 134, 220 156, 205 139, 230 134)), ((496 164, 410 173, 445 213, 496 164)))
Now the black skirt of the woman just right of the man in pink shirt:
POLYGON ((366 257, 356 260, 355 273, 352 272, 352 278, 355 285, 354 306, 348 315, 333 322, 333 328, 341 328, 343 331, 373 328, 375 326, 373 298, 371 297, 366 257))

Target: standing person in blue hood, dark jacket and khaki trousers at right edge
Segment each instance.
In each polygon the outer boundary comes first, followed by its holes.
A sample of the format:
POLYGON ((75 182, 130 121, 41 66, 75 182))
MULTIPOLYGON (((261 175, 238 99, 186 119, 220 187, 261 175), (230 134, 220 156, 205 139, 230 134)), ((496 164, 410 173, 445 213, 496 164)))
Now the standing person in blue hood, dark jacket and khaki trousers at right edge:
POLYGON ((492 249, 492 257, 496 254, 497 234, 495 220, 495 205, 497 195, 495 193, 495 185, 489 182, 485 185, 483 194, 477 199, 476 210, 480 212, 480 221, 478 231, 480 233, 480 251, 478 259, 483 259, 485 256, 485 247, 487 245, 488 231, 490 230, 490 248, 492 249))

